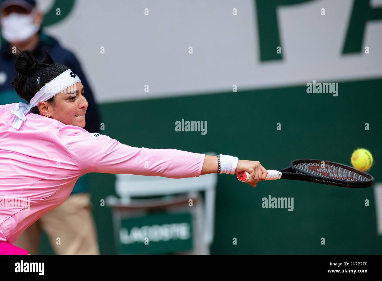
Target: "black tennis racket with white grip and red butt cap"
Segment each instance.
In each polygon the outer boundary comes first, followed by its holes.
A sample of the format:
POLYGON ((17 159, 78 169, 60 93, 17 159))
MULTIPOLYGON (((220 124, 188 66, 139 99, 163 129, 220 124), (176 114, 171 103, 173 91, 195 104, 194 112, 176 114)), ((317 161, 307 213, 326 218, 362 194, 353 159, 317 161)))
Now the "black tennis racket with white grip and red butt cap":
MULTIPOLYGON (((317 159, 294 160, 285 169, 267 170, 267 172, 268 175, 265 180, 304 180, 318 184, 353 188, 369 187, 374 182, 374 177, 366 172, 358 171, 343 164, 317 159)), ((240 172, 237 177, 241 182, 246 182, 249 179, 249 173, 240 172)))

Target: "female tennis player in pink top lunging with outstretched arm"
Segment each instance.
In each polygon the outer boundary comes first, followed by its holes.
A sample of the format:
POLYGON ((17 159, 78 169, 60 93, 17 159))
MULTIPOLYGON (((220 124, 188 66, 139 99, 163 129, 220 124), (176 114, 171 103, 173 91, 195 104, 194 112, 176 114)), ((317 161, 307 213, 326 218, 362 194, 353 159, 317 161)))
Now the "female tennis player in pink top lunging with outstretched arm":
MULTIPOLYGON (((0 106, 0 254, 27 254, 21 233, 62 204, 86 173, 173 179, 249 172, 253 187, 267 171, 259 161, 177 149, 136 148, 83 129, 87 102, 80 78, 47 53, 19 54, 12 82, 26 103, 0 106)), ((116 120, 118 122, 118 120, 116 120)))

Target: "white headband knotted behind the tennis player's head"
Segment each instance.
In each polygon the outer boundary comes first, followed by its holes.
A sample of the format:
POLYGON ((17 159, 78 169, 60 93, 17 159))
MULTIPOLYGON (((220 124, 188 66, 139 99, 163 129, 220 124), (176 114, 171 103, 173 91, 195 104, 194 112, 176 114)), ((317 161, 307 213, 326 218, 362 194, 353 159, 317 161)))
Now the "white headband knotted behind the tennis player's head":
POLYGON ((16 115, 15 120, 12 123, 12 127, 18 130, 23 122, 26 120, 25 115, 28 114, 32 107, 37 106, 40 101, 47 101, 51 97, 54 97, 64 89, 74 85, 77 82, 81 82, 77 75, 70 69, 58 75, 49 83, 46 83, 44 87, 38 91, 31 102, 26 104, 25 102, 18 102, 12 107, 11 115, 16 115))

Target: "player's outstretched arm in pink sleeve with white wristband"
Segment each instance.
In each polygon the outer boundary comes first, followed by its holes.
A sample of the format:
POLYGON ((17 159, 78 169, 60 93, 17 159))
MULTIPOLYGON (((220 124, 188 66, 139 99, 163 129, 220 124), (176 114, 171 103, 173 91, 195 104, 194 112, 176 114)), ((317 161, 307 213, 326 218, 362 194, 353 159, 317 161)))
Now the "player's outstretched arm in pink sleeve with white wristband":
MULTIPOLYGON (((217 156, 177 149, 132 147, 109 136, 92 134, 76 126, 62 127, 60 137, 81 170, 79 171, 81 174, 98 172, 181 179, 218 172, 217 156)), ((237 162, 236 158, 235 163, 225 165, 230 158, 233 157, 224 156, 221 159, 221 167, 228 166, 231 174, 249 172, 250 179, 246 183, 252 186, 256 186, 257 182, 267 176, 267 171, 259 161, 237 162)), ((221 172, 228 173, 224 169, 221 172)))

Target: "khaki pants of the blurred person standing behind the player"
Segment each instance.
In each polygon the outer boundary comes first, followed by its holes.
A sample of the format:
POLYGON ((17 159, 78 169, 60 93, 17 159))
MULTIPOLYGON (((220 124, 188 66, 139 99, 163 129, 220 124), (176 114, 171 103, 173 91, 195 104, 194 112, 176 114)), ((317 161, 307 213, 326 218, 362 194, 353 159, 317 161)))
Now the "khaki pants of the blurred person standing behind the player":
POLYGON ((43 229, 58 255, 99 255, 91 208, 89 192, 74 193, 28 227, 15 245, 38 255, 43 229))

